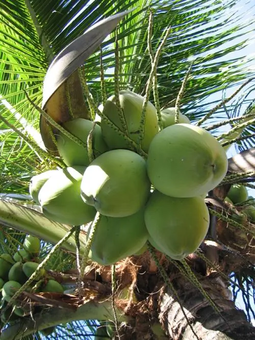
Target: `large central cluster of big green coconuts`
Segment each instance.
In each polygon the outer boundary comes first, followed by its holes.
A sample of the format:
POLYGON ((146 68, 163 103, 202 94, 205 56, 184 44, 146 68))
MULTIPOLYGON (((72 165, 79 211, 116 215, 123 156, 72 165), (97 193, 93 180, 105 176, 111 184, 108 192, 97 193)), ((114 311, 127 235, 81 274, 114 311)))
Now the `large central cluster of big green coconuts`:
POLYGON ((64 123, 79 139, 57 136, 66 168, 31 180, 30 194, 49 219, 81 225, 100 213, 89 256, 101 265, 141 253, 147 241, 174 259, 194 252, 209 227, 203 199, 227 171, 224 149, 205 129, 181 113, 175 124, 174 108, 160 117, 151 102, 142 108, 142 96, 120 91, 96 123, 64 123))

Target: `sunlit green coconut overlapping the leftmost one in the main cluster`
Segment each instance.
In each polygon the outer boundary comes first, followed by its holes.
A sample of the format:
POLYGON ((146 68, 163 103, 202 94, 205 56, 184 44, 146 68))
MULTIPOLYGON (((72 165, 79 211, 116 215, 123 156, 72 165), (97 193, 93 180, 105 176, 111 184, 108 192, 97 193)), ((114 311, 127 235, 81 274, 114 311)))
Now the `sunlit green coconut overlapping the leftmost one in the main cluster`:
POLYGON ((81 225, 93 220, 94 207, 81 198, 80 188, 85 167, 58 170, 42 187, 39 201, 43 213, 56 222, 81 225))

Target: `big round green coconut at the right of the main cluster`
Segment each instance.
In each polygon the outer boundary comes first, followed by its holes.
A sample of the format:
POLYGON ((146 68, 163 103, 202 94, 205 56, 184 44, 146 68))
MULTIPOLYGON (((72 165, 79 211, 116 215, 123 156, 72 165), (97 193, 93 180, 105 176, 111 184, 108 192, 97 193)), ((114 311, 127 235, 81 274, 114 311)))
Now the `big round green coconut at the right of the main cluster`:
POLYGON ((227 171, 227 156, 205 129, 167 126, 152 140, 147 172, 152 185, 172 197, 196 197, 214 189, 227 171))

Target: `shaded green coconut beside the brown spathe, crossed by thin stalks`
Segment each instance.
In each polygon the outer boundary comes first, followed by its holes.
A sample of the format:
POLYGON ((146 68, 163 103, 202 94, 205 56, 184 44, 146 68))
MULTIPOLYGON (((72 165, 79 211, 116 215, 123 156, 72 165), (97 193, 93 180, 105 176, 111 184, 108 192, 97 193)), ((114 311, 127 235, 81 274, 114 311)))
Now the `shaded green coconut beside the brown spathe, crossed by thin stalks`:
MULTIPOLYGON (((93 122, 83 118, 75 118, 64 123, 63 127, 72 135, 78 137, 83 143, 87 143, 89 133, 93 128, 93 122)), ((87 148, 72 141, 62 132, 59 133, 57 138, 57 146, 59 154, 62 156, 67 166, 89 165, 90 161, 87 148)), ((92 148, 95 157, 108 150, 101 134, 101 128, 97 124, 93 130, 92 148)))

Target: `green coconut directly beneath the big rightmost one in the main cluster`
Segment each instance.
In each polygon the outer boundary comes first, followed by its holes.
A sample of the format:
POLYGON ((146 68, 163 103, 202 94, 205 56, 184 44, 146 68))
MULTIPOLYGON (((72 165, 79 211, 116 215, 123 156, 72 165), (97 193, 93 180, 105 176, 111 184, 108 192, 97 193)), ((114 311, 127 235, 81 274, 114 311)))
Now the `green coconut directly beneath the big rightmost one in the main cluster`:
POLYGON ((144 219, 152 246, 180 260, 196 251, 205 239, 210 217, 200 196, 176 198, 154 191, 144 219))

